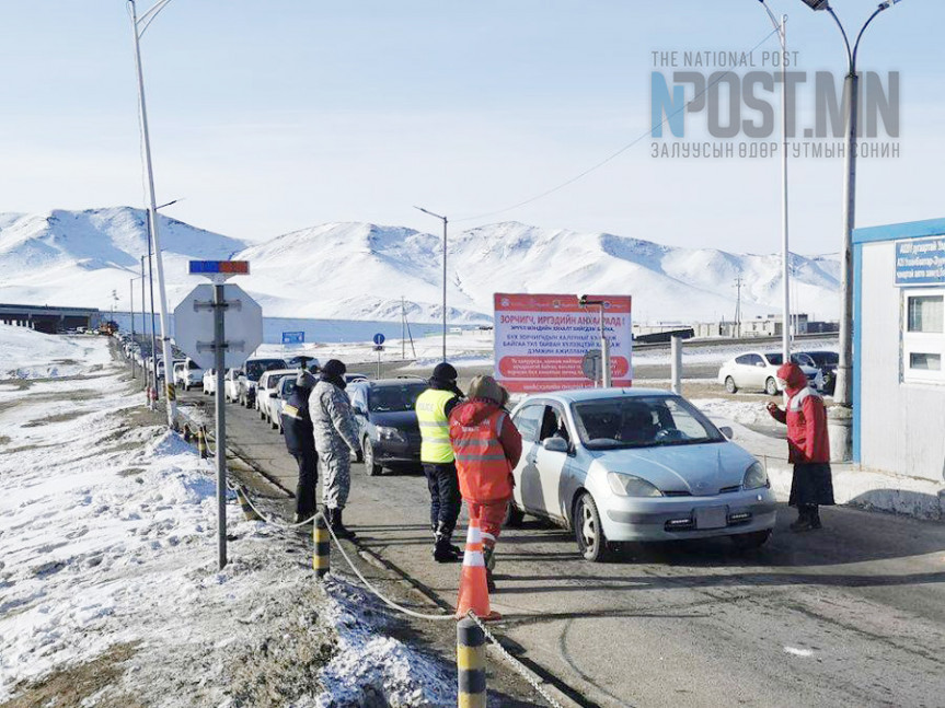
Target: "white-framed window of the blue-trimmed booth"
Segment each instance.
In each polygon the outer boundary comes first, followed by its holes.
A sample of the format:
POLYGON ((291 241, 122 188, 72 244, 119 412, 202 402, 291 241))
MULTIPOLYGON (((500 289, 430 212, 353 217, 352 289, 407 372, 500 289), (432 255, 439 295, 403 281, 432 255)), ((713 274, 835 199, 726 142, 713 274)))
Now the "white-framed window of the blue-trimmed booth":
POLYGON ((945 288, 903 291, 902 380, 945 383, 945 288))

